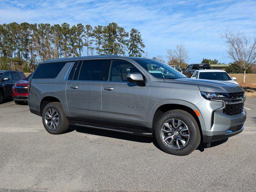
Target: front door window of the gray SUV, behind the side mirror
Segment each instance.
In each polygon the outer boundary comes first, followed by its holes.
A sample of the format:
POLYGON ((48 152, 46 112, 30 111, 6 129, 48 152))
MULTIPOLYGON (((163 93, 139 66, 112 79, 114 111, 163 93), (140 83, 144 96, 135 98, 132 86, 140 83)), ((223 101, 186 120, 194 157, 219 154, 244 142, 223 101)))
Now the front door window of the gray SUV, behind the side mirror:
POLYGON ((131 63, 123 60, 112 60, 109 70, 109 81, 128 82, 129 73, 140 73, 139 70, 131 63))

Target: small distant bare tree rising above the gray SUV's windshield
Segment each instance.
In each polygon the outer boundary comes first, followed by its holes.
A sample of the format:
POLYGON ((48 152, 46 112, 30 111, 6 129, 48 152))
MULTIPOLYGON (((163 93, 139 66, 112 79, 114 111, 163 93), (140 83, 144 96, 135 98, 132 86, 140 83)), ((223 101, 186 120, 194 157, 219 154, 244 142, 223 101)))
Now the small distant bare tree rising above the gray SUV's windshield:
POLYGON ((177 45, 175 50, 168 49, 166 57, 169 61, 176 60, 179 67, 189 60, 188 51, 183 44, 177 45))

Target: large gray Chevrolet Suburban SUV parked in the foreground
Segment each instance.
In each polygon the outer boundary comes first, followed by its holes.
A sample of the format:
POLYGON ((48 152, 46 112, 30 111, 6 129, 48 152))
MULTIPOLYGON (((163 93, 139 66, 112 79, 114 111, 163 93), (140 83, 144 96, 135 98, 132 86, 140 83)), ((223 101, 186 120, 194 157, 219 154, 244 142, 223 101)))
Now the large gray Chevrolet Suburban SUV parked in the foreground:
POLYGON ((200 141, 244 129, 244 90, 236 84, 189 79, 147 58, 92 56, 38 64, 29 82, 30 111, 50 134, 69 124, 155 136, 169 154, 187 155, 200 141))

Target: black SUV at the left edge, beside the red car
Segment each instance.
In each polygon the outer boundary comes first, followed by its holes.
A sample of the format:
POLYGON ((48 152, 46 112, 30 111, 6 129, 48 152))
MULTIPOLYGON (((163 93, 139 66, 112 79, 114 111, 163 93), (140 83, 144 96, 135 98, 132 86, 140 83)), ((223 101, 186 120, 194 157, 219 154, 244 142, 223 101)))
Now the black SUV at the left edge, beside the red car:
POLYGON ((4 98, 12 96, 12 86, 24 77, 26 76, 20 71, 0 71, 0 104, 4 102, 4 98))

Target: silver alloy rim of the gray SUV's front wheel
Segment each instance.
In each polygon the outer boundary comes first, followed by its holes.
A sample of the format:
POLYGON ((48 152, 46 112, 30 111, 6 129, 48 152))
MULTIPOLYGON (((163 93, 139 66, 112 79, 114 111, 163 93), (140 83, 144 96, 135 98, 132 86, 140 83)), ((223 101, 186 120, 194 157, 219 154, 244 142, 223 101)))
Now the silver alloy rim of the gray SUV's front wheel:
POLYGON ((163 124, 161 136, 168 147, 181 149, 189 141, 189 129, 183 121, 173 118, 163 124))

